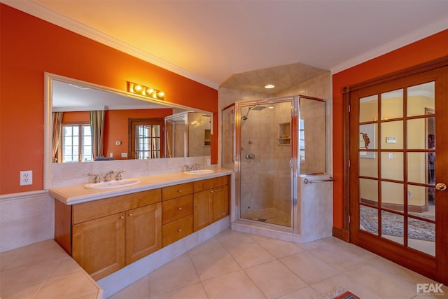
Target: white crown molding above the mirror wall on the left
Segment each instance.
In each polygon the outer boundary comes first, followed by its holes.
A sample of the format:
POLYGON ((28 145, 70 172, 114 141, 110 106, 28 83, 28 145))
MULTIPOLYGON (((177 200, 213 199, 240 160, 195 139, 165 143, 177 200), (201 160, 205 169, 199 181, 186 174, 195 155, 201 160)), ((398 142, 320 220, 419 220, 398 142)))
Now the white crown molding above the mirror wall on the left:
POLYGON ((162 67, 163 69, 167 69, 168 71, 172 71, 175 74, 179 74, 186 78, 189 78, 198 83, 204 84, 209 88, 214 88, 218 90, 219 84, 216 82, 208 81, 197 74, 193 74, 186 69, 182 69, 181 67, 176 66, 170 62, 160 59, 159 57, 155 57, 150 53, 146 53, 139 48, 135 48, 133 46, 128 45, 127 43, 123 43, 123 41, 119 41, 118 39, 113 38, 107 34, 99 32, 96 29, 83 25, 82 23, 72 20, 71 18, 67 18, 64 15, 56 13, 55 11, 51 11, 40 4, 32 1, 14 1, 14 0, 0 0, 1 3, 11 6, 19 11, 23 11, 24 13, 28 13, 29 15, 34 15, 36 18, 45 20, 54 25, 67 29, 76 34, 80 34, 82 36, 87 37, 88 39, 92 39, 99 43, 102 43, 106 46, 119 50, 123 53, 127 53, 132 55, 133 57, 137 57, 141 60, 149 62, 151 64, 155 64, 158 67, 162 67))

